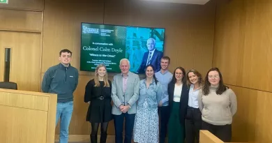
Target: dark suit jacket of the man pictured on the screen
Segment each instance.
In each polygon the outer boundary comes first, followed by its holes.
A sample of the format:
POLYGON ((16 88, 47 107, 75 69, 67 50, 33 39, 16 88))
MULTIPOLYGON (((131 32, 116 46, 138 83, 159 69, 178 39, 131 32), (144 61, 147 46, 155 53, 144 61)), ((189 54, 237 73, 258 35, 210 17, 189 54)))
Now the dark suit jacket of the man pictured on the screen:
MULTIPOLYGON (((160 59, 163 57, 163 52, 155 50, 151 59, 150 64, 154 66, 154 73, 160 71, 160 59)), ((144 73, 146 68, 146 61, 149 59, 149 52, 144 53, 144 57, 142 58, 141 66, 139 66, 137 73, 144 73)))

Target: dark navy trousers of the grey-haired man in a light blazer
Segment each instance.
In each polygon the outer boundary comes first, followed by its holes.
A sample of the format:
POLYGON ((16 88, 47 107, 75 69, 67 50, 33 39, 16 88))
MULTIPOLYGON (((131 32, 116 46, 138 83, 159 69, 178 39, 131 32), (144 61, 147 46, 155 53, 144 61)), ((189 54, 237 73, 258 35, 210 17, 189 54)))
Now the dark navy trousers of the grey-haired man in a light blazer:
POLYGON ((132 136, 133 136, 135 114, 128 114, 128 112, 122 113, 120 115, 114 115, 115 143, 123 143, 123 119, 124 118, 126 118, 124 143, 131 143, 132 136))

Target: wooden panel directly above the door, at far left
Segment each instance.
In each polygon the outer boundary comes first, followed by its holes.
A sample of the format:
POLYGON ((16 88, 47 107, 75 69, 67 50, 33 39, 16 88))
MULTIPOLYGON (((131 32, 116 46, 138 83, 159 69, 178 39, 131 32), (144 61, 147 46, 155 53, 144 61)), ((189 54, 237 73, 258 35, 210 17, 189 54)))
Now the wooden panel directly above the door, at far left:
POLYGON ((0 9, 0 29, 42 31, 43 12, 0 9))

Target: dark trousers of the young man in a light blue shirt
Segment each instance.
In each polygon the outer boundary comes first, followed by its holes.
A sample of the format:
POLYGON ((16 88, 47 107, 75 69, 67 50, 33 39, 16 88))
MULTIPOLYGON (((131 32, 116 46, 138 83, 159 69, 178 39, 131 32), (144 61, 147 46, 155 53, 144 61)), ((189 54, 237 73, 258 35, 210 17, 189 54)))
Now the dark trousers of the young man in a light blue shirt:
POLYGON ((165 143, 167 123, 170 116, 169 112, 169 106, 158 107, 158 114, 160 116, 160 143, 165 143))

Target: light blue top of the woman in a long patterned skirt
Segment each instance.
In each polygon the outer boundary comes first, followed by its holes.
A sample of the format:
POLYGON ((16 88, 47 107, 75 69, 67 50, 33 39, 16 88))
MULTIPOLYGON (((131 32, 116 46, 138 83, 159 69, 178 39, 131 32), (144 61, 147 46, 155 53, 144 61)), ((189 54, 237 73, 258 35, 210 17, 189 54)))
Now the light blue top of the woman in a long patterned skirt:
POLYGON ((147 98, 149 107, 158 107, 158 103, 162 98, 163 91, 160 82, 155 83, 155 80, 149 85, 149 89, 146 88, 146 79, 139 82, 139 100, 137 105, 142 106, 144 100, 147 98))

